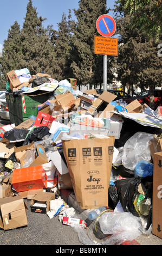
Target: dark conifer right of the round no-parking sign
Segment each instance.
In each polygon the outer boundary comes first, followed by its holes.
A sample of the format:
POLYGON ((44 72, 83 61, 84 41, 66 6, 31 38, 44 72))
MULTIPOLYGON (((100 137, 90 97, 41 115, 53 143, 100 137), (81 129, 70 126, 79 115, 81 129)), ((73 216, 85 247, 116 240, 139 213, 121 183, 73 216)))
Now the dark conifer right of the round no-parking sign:
POLYGON ((119 36, 118 80, 124 86, 150 89, 150 107, 154 109, 153 89, 161 86, 161 58, 158 57, 157 44, 148 41, 145 33, 132 27, 132 16, 126 15, 120 4, 121 14, 117 19, 119 36))

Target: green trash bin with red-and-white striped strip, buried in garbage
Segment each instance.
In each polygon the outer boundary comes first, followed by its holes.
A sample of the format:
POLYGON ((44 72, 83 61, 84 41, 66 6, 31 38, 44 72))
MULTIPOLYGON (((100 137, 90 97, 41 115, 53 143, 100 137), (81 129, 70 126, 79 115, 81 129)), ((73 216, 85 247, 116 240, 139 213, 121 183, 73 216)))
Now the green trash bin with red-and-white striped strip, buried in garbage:
POLYGON ((15 126, 27 120, 30 115, 38 114, 37 105, 44 103, 49 99, 50 94, 41 94, 29 96, 25 94, 13 95, 13 93, 6 93, 10 121, 15 126))

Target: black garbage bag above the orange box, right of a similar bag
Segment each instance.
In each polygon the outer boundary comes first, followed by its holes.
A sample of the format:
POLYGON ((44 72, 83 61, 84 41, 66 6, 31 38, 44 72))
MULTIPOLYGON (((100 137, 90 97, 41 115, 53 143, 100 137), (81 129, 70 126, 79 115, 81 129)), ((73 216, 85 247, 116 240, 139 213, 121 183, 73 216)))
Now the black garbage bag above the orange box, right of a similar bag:
POLYGON ((49 128, 47 126, 36 127, 29 133, 23 145, 31 144, 31 142, 42 141, 43 137, 46 136, 48 132, 49 128))

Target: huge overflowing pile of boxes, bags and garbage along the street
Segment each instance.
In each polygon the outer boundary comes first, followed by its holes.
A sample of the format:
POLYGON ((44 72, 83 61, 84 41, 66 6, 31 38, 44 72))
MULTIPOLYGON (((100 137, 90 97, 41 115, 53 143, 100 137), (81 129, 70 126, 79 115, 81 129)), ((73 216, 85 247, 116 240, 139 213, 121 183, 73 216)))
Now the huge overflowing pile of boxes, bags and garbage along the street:
POLYGON ((22 121, 1 127, 0 227, 28 225, 27 199, 31 212, 58 217, 85 245, 162 238, 160 107, 126 105, 109 92, 76 90, 74 78, 28 69, 7 79, 10 119, 22 121))

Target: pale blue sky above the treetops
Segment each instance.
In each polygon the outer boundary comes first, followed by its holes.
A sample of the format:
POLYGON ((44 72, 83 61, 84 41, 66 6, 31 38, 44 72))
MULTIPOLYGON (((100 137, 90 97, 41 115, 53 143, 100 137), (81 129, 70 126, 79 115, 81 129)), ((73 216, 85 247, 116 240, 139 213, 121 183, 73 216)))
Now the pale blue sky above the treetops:
MULTIPOLYGON (((8 31, 14 22, 17 21, 22 29, 24 18, 27 13, 29 0, 4 0, 0 1, 0 56, 3 48, 3 42, 8 38, 8 31)), ((79 0, 33 0, 33 7, 37 8, 38 17, 47 18, 43 22, 43 27, 53 25, 58 29, 57 23, 62 19, 63 13, 68 16, 69 9, 72 10, 72 17, 75 19, 73 9, 79 8, 79 0)), ((107 0, 107 8, 114 7, 115 0, 107 0)), ((113 17, 113 12, 109 12, 113 17)))

